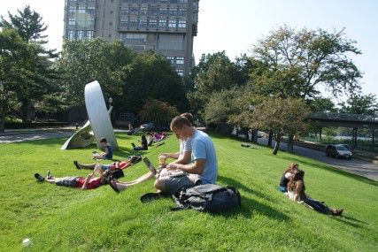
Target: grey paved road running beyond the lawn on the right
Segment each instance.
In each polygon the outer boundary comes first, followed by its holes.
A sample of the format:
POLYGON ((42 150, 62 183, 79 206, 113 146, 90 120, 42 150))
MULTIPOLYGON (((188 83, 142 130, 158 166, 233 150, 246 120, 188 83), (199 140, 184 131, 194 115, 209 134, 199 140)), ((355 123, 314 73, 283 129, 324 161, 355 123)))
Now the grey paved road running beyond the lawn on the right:
MULTIPOLYGON (((258 138, 258 143, 266 145, 266 138, 258 138)), ((287 144, 285 142, 280 143, 280 149, 286 150, 287 144)), ((346 172, 351 172, 364 176, 369 179, 378 180, 378 164, 372 164, 357 158, 352 158, 351 160, 347 159, 338 159, 335 157, 327 157, 324 151, 316 149, 308 149, 305 147, 294 146, 294 154, 311 157, 315 160, 318 160, 322 163, 332 165, 338 169, 341 169, 346 172)))

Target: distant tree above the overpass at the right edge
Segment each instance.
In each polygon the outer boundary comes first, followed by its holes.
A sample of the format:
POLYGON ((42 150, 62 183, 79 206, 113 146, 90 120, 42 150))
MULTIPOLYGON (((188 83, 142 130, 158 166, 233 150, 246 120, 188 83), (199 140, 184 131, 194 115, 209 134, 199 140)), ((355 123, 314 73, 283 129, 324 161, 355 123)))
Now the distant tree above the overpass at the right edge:
POLYGON ((340 103, 340 112, 351 114, 374 115, 378 113, 376 95, 351 95, 346 102, 340 103))

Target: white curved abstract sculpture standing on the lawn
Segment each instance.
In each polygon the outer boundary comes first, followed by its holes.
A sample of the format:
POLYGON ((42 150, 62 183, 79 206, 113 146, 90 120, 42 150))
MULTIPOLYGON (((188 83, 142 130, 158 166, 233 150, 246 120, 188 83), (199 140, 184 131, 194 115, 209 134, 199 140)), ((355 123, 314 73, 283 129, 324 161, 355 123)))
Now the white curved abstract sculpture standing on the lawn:
POLYGON ((103 149, 100 144, 102 137, 106 138, 113 149, 118 149, 118 143, 110 118, 112 108, 107 111, 103 91, 96 80, 85 86, 84 99, 89 121, 80 131, 73 134, 73 136, 63 144, 61 149, 86 147, 93 142, 93 137, 90 139, 89 135, 94 136, 96 139, 98 149, 103 149))

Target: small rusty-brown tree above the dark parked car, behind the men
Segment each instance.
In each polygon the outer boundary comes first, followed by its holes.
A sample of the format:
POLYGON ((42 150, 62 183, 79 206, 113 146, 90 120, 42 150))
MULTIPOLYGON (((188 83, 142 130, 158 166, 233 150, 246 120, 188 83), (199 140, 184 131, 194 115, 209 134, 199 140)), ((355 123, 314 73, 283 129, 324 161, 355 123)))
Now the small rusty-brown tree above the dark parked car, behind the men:
POLYGON ((147 122, 154 122, 158 126, 167 126, 169 122, 179 114, 176 107, 168 103, 160 102, 155 99, 149 99, 139 111, 139 117, 147 122))

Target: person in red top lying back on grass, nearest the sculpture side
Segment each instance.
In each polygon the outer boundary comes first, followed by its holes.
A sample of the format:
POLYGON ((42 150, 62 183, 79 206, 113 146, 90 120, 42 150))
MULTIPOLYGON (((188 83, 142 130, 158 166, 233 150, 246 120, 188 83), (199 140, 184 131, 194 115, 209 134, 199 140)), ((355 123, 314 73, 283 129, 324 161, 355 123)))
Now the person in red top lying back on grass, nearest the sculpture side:
POLYGON ((106 180, 103 179, 104 172, 101 169, 101 165, 96 165, 92 173, 87 177, 64 177, 55 178, 51 175, 50 171, 47 172, 46 178, 43 178, 39 173, 35 173, 35 179, 40 182, 47 181, 50 184, 56 184, 60 187, 75 187, 85 189, 95 189, 106 184, 106 180), (98 172, 99 176, 95 176, 95 172, 98 172))

